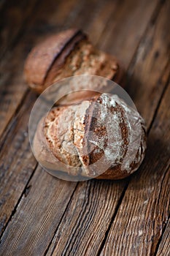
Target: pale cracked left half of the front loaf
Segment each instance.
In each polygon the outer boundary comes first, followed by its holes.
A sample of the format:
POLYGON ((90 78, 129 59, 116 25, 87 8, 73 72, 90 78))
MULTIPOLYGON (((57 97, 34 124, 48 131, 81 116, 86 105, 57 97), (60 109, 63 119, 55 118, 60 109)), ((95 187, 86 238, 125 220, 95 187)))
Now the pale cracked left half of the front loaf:
MULTIPOLYGON (((45 120, 45 137, 54 156, 65 165, 81 167, 77 148, 81 148, 84 135, 84 112, 89 102, 50 110, 45 120)), ((78 175, 81 168, 75 168, 78 175)), ((73 170, 73 168, 72 168, 73 170)))

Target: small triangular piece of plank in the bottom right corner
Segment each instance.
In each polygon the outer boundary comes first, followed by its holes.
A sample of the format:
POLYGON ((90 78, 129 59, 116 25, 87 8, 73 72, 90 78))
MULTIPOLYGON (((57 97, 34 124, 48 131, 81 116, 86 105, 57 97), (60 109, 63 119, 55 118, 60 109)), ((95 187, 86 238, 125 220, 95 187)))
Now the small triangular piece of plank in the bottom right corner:
POLYGON ((169 236, 170 236, 170 219, 169 219, 169 222, 167 223, 166 230, 163 233, 161 243, 159 244, 158 252, 156 253, 157 256, 170 255, 170 246, 169 246, 170 237, 169 236))

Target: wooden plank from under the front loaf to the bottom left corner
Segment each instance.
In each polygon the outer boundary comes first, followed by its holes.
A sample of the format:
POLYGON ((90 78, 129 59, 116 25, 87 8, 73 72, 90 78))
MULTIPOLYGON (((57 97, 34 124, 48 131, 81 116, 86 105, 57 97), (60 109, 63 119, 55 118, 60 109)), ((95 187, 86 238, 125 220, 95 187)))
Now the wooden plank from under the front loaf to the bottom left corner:
POLYGON ((28 192, 4 232, 0 255, 43 255, 76 184, 61 181, 37 168, 28 192), (11 242, 6 244, 7 241, 11 242))

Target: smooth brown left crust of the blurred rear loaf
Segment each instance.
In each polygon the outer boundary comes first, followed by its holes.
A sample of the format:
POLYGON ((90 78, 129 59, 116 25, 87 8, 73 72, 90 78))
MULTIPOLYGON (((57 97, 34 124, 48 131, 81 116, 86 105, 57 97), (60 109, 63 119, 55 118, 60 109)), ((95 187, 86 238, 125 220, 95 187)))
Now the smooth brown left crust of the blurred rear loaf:
POLYGON ((28 54, 24 67, 25 78, 31 89, 38 93, 44 91, 45 80, 50 72, 53 72, 53 64, 55 69, 57 65, 61 67, 66 56, 74 49, 74 45, 85 38, 86 35, 79 29, 69 29, 54 34, 36 45, 28 54))

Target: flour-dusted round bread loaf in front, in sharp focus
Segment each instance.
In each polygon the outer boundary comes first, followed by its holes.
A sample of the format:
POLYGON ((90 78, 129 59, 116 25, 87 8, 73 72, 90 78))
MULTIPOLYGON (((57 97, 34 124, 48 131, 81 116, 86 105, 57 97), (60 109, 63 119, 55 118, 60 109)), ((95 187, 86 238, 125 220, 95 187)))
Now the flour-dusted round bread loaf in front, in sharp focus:
POLYGON ((34 154, 48 170, 88 178, 125 178, 139 167, 146 127, 116 95, 58 106, 39 121, 34 154))

